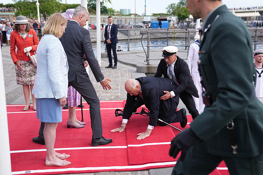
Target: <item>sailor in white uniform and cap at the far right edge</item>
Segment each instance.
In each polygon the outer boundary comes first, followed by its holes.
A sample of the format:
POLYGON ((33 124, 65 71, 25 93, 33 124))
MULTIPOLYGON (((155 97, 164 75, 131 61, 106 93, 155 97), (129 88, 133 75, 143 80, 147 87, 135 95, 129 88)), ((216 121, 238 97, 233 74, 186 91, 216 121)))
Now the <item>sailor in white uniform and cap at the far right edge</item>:
POLYGON ((257 81, 256 81, 256 97, 263 104, 263 49, 255 50, 254 52, 255 68, 257 71, 257 81))

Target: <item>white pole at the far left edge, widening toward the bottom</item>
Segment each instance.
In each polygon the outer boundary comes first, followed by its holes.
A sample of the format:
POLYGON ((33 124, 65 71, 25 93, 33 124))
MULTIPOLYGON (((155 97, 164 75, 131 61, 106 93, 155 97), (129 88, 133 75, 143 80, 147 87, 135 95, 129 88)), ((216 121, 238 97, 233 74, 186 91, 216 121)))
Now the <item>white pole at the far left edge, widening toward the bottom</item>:
POLYGON ((2 62, 2 52, 0 49, 0 111, 1 111, 1 122, 0 122, 0 174, 11 175, 11 158, 10 158, 10 146, 9 146, 9 135, 8 135, 8 124, 7 124, 7 113, 6 113, 6 93, 4 83, 4 72, 2 62))

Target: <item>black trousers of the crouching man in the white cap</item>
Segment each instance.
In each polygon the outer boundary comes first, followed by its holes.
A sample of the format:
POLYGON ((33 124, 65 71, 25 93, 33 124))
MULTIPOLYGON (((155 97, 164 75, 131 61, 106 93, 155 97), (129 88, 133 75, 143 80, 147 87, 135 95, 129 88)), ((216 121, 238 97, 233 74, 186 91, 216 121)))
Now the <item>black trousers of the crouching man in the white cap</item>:
POLYGON ((183 101, 184 105, 188 109, 189 113, 192 115, 193 119, 199 115, 195 106, 195 101, 191 94, 184 90, 179 94, 179 98, 183 101))

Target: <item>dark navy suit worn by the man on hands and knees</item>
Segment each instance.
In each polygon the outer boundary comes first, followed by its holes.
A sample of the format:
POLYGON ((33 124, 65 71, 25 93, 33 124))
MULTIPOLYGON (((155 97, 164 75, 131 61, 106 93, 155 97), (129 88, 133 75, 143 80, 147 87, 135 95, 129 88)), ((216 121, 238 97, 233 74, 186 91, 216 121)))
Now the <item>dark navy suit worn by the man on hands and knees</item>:
MULTIPOLYGON (((159 98, 165 93, 163 91, 171 91, 177 85, 169 78, 158 77, 140 77, 136 78, 141 85, 141 95, 131 96, 127 93, 126 104, 123 109, 123 119, 130 119, 131 113, 136 112, 137 108, 145 104, 150 111, 149 125, 156 126, 158 118, 167 122, 175 123, 182 121, 182 114, 176 111, 179 103, 179 95, 167 100, 159 98)), ((162 125, 162 124, 161 124, 162 125)))

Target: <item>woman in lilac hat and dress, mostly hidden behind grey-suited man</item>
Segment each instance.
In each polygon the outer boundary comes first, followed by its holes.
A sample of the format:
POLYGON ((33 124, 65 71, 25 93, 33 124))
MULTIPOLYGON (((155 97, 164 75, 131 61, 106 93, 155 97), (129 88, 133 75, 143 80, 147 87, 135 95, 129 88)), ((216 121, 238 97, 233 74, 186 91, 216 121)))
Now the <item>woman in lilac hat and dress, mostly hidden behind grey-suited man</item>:
MULTIPOLYGON (((73 11, 74 8, 70 8, 66 10, 65 13, 61 13, 61 15, 70 21, 73 16, 73 11)), ((77 119, 76 117, 76 106, 79 105, 80 102, 80 94, 77 90, 75 90, 72 86, 68 88, 68 98, 67 99, 67 104, 68 104, 68 128, 70 126, 75 127, 75 128, 82 128, 86 124, 85 122, 81 122, 77 119)))

